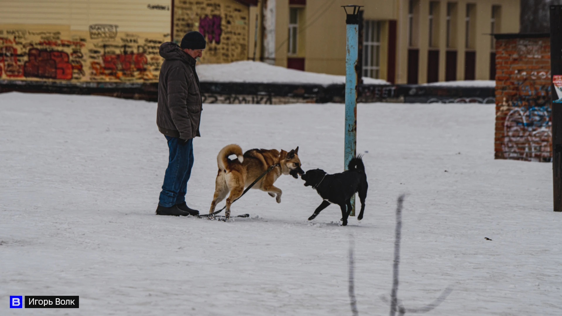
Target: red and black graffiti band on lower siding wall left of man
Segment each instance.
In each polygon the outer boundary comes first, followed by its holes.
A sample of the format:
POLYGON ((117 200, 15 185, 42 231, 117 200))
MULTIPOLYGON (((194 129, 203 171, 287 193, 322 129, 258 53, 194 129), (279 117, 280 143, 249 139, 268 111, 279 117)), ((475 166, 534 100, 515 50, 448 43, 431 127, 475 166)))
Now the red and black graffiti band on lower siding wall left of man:
POLYGON ((157 82, 158 46, 169 34, 129 33, 119 25, 0 24, 0 79, 157 82))

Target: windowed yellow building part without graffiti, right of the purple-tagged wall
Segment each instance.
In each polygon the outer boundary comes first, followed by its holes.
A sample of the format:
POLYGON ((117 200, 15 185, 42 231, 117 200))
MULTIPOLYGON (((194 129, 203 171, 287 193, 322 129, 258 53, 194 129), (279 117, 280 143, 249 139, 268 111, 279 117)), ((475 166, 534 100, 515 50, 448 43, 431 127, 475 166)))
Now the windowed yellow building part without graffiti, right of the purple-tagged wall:
MULTIPOLYGON (((250 9, 256 59, 345 74, 348 0, 261 0, 250 9), (260 14, 261 13, 261 14, 260 14), (260 26, 255 36, 255 19, 260 26)), ((355 0, 363 75, 393 83, 493 79, 490 33, 518 33, 519 0, 355 0)), ((253 58, 254 49, 248 49, 253 58)))

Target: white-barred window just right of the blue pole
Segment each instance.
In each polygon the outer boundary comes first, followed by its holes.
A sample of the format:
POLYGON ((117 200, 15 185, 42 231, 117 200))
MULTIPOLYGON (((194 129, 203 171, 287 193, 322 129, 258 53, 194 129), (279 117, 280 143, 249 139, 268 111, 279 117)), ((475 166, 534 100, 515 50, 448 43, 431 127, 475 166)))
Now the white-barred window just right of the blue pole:
POLYGON ((363 33, 363 76, 380 78, 380 21, 365 21, 363 33))

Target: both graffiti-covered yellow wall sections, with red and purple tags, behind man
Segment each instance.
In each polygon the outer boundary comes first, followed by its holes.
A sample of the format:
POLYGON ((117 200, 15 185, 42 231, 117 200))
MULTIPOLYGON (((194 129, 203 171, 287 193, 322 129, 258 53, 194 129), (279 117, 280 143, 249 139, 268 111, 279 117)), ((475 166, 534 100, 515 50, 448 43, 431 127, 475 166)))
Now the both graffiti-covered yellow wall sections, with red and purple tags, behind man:
POLYGON ((160 44, 191 30, 201 62, 245 60, 248 14, 235 0, 2 0, 0 79, 157 82, 160 44))

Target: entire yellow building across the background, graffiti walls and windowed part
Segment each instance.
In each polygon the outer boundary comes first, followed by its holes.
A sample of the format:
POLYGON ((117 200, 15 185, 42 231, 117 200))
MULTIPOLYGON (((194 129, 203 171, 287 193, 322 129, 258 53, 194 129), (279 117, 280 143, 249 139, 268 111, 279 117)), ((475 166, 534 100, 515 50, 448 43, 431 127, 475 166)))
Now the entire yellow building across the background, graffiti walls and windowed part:
MULTIPOLYGON (((344 74, 348 0, 2 0, 0 79, 156 82, 158 46, 191 30, 201 62, 344 74)), ((519 0, 355 0, 362 75, 392 83, 490 79, 490 33, 517 33, 519 0)))

